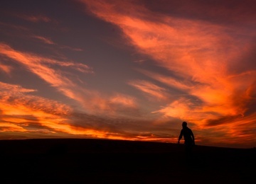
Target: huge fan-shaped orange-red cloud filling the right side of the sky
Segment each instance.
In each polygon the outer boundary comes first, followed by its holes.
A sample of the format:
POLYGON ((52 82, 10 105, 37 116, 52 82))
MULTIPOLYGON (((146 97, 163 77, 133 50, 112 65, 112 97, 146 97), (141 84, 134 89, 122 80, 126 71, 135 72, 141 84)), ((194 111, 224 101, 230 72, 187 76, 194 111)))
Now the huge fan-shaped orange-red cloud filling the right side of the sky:
MULTIPOLYGON (((252 61, 256 59, 252 54, 255 47, 252 40, 256 35, 250 26, 255 20, 250 18, 250 21, 242 22, 245 15, 239 16, 239 12, 244 6, 236 4, 229 11, 223 11, 223 8, 216 6, 218 4, 213 4, 210 13, 203 18, 203 14, 196 13, 188 5, 181 6, 181 9, 190 10, 186 11, 191 13, 189 16, 176 12, 172 3, 168 6, 167 1, 164 8, 169 7, 168 13, 151 11, 154 6, 143 6, 143 3, 134 1, 80 2, 86 5, 87 11, 120 28, 138 52, 149 55, 158 65, 175 74, 166 77, 157 72, 142 71, 146 76, 188 94, 186 97, 177 96, 176 100, 172 99, 171 103, 155 113, 186 118, 206 129, 217 125, 224 128, 225 118, 232 120, 230 125, 235 125, 240 117, 252 115, 256 119, 252 114, 255 108, 251 105, 255 104, 251 89, 255 88, 256 79, 255 67, 252 67, 252 61), (214 12, 225 13, 225 20, 218 13, 214 17, 214 12), (247 57, 245 54, 250 56, 246 65, 242 60, 247 57), (215 120, 218 123, 213 123, 215 120)), ((192 5, 201 10, 207 6, 199 1, 192 5)), ((159 98, 165 96, 161 88, 152 90, 142 82, 130 85, 159 98)), ((252 125, 252 122, 247 123, 249 127, 252 125)), ((241 134, 240 129, 231 130, 233 134, 226 136, 241 134)))

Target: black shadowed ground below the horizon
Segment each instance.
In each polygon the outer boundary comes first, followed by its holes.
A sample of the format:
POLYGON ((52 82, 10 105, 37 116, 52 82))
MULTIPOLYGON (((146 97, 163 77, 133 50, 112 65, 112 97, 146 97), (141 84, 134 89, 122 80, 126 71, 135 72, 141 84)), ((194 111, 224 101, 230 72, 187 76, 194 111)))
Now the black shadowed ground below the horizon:
POLYGON ((255 149, 101 139, 0 141, 0 183, 256 183, 255 149))

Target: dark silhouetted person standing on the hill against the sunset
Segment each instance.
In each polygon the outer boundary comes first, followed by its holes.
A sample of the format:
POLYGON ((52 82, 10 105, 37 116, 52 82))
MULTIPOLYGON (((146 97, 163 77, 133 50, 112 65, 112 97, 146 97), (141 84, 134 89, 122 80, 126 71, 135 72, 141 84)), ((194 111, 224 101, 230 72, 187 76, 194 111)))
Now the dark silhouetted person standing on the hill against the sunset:
POLYGON ((192 148, 195 145, 195 137, 193 136, 192 130, 188 128, 187 125, 187 122, 182 122, 182 130, 178 137, 178 144, 180 143, 181 138, 184 137, 186 159, 189 159, 192 156, 192 148))

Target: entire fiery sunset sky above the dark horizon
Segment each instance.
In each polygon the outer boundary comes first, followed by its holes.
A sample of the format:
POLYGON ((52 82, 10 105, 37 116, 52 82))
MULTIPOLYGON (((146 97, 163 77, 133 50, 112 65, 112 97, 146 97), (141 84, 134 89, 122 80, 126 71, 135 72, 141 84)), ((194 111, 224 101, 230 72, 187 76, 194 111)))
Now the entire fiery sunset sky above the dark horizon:
POLYGON ((0 1, 0 139, 256 146, 256 6, 0 1))

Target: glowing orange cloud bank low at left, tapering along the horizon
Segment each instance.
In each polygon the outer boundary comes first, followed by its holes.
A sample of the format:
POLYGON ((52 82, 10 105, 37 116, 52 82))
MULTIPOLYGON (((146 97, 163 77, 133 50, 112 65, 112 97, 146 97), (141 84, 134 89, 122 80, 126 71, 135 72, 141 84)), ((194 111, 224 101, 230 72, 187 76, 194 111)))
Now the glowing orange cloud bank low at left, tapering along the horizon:
MULTIPOLYGON (((0 82, 0 132, 83 135, 125 139, 124 135, 72 125, 73 109, 68 105, 33 96, 33 89, 0 82), (36 127, 36 130, 33 129, 36 127)), ((1 139, 1 136, 0 136, 1 139)))

